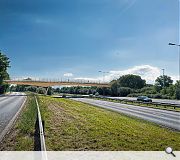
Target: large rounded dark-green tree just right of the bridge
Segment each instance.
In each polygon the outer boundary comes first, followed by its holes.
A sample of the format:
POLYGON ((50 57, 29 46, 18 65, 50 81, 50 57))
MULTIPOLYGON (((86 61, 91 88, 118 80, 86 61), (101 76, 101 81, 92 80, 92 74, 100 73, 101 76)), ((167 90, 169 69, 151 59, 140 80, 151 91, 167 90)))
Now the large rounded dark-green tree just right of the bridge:
POLYGON ((138 75, 123 75, 117 80, 120 87, 129 87, 131 89, 141 89, 146 85, 146 81, 138 75))

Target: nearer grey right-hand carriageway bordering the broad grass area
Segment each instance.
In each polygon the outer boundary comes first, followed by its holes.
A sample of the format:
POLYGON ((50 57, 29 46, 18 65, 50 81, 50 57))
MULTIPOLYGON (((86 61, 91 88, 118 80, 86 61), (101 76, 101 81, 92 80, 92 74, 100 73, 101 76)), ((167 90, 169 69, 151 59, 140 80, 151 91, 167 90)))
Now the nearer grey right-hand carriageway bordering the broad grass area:
POLYGON ((150 122, 154 122, 161 126, 166 126, 180 131, 180 112, 153 109, 121 103, 114 103, 102 100, 94 100, 88 98, 72 98, 76 101, 92 104, 101 108, 110 109, 129 116, 138 117, 150 122))

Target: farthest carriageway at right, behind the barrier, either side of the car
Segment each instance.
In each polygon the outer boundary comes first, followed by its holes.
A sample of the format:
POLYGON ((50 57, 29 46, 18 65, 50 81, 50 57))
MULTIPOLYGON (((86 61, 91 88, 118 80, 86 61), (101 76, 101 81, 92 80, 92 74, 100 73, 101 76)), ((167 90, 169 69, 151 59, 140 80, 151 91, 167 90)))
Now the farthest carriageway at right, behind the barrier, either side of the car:
MULTIPOLYGON (((137 97, 106 97, 106 98, 137 100, 137 97)), ((171 99, 152 99, 152 101, 153 101, 153 102, 159 102, 159 103, 180 104, 180 100, 171 100, 171 99)))

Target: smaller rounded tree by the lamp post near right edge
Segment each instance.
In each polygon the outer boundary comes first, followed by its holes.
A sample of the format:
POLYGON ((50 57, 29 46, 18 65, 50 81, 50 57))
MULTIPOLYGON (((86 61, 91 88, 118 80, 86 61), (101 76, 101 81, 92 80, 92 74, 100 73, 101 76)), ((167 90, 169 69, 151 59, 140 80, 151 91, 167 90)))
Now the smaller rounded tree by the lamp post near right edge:
POLYGON ((156 86, 160 86, 162 87, 169 87, 170 85, 172 85, 173 80, 171 79, 171 77, 164 75, 164 76, 159 76, 157 77, 157 79, 155 80, 155 85, 156 86))

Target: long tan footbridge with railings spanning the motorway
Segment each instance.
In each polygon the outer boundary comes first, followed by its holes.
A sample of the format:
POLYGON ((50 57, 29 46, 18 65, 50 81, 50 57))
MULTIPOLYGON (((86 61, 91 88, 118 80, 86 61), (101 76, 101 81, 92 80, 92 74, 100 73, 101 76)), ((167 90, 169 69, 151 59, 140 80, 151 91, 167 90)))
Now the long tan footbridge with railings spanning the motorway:
POLYGON ((8 84, 16 85, 30 85, 38 87, 51 87, 51 86, 97 86, 97 87, 110 87, 109 83, 98 83, 83 80, 76 81, 53 81, 53 80, 5 80, 8 84))

